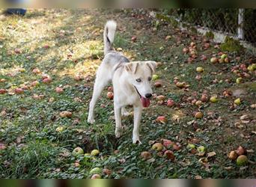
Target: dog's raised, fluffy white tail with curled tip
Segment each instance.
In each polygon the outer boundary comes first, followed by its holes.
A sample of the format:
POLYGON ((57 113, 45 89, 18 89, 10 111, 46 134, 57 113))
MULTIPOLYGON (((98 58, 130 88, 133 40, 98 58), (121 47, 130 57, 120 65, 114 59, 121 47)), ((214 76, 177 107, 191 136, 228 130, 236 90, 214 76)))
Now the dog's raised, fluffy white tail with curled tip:
POLYGON ((104 28, 104 55, 106 55, 110 50, 112 50, 112 43, 115 39, 115 30, 117 28, 117 23, 113 20, 106 22, 104 28))

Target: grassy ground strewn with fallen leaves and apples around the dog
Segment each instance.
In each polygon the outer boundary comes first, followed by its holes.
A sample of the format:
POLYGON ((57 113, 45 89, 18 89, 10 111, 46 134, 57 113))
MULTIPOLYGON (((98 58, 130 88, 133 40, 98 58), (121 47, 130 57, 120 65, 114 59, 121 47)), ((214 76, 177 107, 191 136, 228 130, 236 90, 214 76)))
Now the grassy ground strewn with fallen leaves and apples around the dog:
POLYGON ((252 64, 255 57, 247 52, 228 53, 229 63, 212 64, 210 58, 220 49, 213 42, 204 49, 203 40, 129 10, 28 10, 24 17, 1 16, 0 89, 7 93, 0 94, 0 177, 90 178, 92 168, 112 171, 101 174, 103 178, 256 177, 256 113, 250 107, 256 102, 255 72, 247 72, 249 77, 242 84, 236 84, 238 76, 231 72, 237 65, 252 64), (118 22, 115 47, 124 49, 130 59, 162 62, 156 72, 162 87, 153 91, 175 101, 168 107, 153 99, 150 108, 144 109, 141 145, 132 144, 132 117, 123 120, 124 135, 115 138, 113 103, 106 98, 107 89, 97 104, 97 123, 86 121, 94 73, 103 58, 107 19, 118 22), (132 36, 137 37, 135 42, 132 36), (171 37, 165 40, 166 36, 171 37), (198 58, 187 63, 189 55, 183 48, 192 41, 198 58), (207 60, 202 61, 201 55, 207 60), (203 67, 204 73, 197 73, 196 67, 203 67), (40 73, 33 73, 35 68, 40 73), (43 73, 52 82, 44 84, 43 73), (198 74, 201 80, 195 79, 198 74), (177 88, 174 77, 189 84, 189 89, 177 88), (31 86, 34 81, 39 85, 31 86), (26 87, 17 93, 16 88, 26 87), (57 87, 64 92, 56 93, 57 87), (223 96, 225 90, 234 96, 223 96), (219 101, 192 105, 189 97, 200 99, 203 92, 208 97, 218 95, 219 101), (236 106, 237 97, 242 104, 236 106), (60 117, 61 111, 73 115, 60 117), (195 119, 195 111, 204 117, 195 119), (249 116, 240 120, 244 114, 249 116), (167 123, 156 122, 160 115, 167 123), (174 161, 150 150, 153 142, 162 139, 180 144, 180 150, 170 148, 174 161), (204 156, 187 148, 189 142, 204 146, 204 156), (240 145, 249 152, 250 162, 243 166, 227 156, 240 145), (98 149, 100 156, 73 156, 76 147, 85 153, 98 149), (141 159, 142 151, 150 151, 152 159, 141 159))

